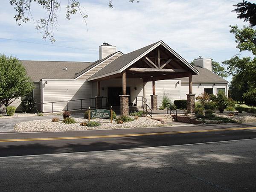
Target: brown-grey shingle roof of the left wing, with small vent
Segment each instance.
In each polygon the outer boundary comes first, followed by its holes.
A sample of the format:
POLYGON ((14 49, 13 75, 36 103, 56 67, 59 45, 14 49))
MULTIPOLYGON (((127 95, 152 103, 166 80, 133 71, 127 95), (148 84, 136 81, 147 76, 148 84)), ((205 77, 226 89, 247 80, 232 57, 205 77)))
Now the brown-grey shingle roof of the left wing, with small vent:
POLYGON ((76 73, 90 67, 92 62, 21 61, 32 81, 41 79, 74 79, 76 73), (67 71, 65 70, 67 66, 67 71))

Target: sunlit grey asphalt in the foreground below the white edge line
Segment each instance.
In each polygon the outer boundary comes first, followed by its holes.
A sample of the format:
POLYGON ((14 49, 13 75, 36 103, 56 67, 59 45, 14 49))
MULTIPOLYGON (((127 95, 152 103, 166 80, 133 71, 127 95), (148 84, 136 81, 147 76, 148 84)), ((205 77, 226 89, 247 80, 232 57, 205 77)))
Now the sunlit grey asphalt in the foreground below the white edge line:
POLYGON ((253 192, 255 162, 256 140, 0 157, 0 191, 253 192))

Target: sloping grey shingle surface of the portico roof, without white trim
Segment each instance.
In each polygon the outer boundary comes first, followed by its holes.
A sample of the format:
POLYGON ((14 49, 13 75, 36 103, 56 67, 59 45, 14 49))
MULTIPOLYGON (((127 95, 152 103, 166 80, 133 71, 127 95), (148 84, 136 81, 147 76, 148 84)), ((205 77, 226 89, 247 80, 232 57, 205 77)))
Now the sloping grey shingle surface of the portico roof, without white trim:
POLYGON ((111 63, 109 63, 105 67, 103 67, 98 72, 94 73, 92 76, 90 76, 90 79, 94 78, 94 77, 98 77, 98 76, 102 76, 102 75, 111 73, 113 71, 120 70, 122 67, 125 67, 125 65, 127 65, 128 63, 133 61, 134 58, 137 58, 138 56, 143 54, 143 52, 147 51, 148 49, 150 49, 151 47, 156 45, 158 42, 159 41, 157 41, 154 44, 151 44, 151 45, 148 45, 146 47, 137 49, 137 50, 135 50, 133 52, 127 53, 125 55, 122 55, 122 56, 116 58, 114 61, 112 61, 111 63))

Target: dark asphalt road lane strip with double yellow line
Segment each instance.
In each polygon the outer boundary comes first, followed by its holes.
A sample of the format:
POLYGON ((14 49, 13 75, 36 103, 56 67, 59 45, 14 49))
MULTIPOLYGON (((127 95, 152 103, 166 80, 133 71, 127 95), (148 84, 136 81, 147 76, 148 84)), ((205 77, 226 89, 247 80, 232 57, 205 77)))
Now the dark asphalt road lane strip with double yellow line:
POLYGON ((256 123, 101 131, 0 133, 0 157, 256 138, 256 123))

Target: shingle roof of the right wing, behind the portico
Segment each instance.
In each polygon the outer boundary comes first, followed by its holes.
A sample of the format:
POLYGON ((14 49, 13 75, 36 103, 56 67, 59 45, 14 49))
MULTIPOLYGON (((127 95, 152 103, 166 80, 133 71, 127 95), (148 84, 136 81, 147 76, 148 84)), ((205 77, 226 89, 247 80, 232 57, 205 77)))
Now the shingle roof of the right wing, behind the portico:
MULTIPOLYGON (((193 67, 195 67, 199 71, 198 75, 192 76, 193 82, 197 82, 197 83, 227 83, 228 82, 222 77, 216 75, 215 73, 212 73, 208 69, 204 69, 198 66, 193 66, 193 67)), ((181 82, 189 82, 188 77, 177 78, 177 80, 178 79, 181 80, 181 82)))

